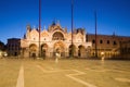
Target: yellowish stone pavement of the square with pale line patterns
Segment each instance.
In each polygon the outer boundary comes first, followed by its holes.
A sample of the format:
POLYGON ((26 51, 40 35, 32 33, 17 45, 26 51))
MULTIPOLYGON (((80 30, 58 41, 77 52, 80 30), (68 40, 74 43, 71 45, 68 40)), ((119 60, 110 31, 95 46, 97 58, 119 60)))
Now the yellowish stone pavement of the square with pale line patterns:
POLYGON ((0 60, 0 87, 129 87, 129 69, 130 61, 0 60))

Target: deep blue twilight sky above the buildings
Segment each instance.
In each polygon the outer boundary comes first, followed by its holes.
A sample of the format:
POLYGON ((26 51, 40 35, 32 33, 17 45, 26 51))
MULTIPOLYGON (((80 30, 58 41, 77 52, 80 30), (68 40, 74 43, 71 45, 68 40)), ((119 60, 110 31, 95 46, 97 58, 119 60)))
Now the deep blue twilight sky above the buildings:
MULTIPOLYGON (((70 32, 72 0, 41 0, 42 28, 58 20, 70 32)), ((130 36, 130 0, 75 0, 74 27, 94 34, 94 10, 98 12, 98 34, 130 36)), ((26 25, 38 27, 39 0, 0 0, 0 40, 22 38, 26 25)))

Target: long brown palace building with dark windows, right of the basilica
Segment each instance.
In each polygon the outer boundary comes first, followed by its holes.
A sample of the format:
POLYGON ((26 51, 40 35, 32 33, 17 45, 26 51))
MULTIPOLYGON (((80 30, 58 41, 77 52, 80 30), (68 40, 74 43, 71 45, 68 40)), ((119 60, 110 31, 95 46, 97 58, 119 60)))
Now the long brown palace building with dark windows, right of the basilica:
MULTIPOLYGON (((95 55, 95 35, 87 34, 87 41, 92 42, 91 57, 95 55)), ((98 47, 98 57, 105 59, 130 59, 129 55, 122 53, 123 49, 127 49, 127 52, 130 54, 130 37, 117 36, 117 35, 98 35, 96 36, 96 47, 98 47), (127 41, 127 42, 126 42, 127 41), (102 54, 103 53, 103 54, 102 54), (126 57, 125 57, 126 55, 126 57)), ((128 54, 128 53, 127 53, 128 54)))

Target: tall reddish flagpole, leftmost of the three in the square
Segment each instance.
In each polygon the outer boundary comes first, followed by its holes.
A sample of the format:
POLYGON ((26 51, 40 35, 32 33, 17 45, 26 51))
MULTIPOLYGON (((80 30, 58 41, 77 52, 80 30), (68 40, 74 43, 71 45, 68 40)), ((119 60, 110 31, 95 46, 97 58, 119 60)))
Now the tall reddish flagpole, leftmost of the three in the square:
POLYGON ((40 33, 41 33, 41 0, 39 0, 39 58, 41 57, 40 33))

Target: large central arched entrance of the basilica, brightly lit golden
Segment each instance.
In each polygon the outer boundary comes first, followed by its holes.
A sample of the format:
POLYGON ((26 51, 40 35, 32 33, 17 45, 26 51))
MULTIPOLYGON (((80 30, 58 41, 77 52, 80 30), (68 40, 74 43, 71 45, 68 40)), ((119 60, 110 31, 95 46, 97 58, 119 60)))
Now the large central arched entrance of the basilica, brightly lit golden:
POLYGON ((60 53, 61 57, 65 57, 65 45, 62 41, 54 44, 54 55, 55 53, 60 53))

